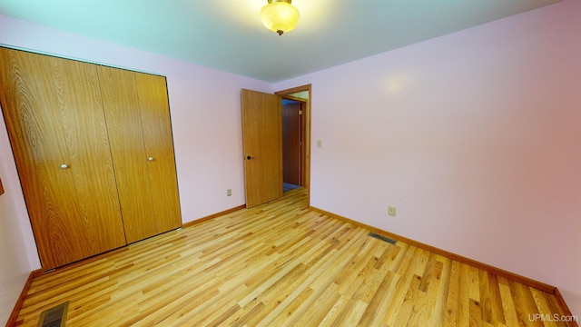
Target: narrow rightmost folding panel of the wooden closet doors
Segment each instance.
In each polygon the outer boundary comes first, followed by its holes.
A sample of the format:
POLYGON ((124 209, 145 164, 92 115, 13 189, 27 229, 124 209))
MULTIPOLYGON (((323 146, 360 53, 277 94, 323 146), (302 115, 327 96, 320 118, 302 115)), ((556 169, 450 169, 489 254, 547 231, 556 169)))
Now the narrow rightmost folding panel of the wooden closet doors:
POLYGON ((143 125, 143 141, 153 194, 153 212, 159 233, 182 225, 173 151, 172 121, 165 77, 136 73, 143 125))

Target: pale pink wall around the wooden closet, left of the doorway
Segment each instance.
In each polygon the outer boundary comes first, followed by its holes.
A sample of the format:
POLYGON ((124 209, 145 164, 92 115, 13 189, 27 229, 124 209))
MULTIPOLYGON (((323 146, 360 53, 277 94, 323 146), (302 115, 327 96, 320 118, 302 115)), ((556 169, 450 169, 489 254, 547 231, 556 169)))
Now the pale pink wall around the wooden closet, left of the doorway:
MULTIPOLYGON (((3 15, 0 31, 2 45, 167 76, 183 223, 245 203, 241 88, 271 92, 271 84, 3 15)), ((0 248, 14 249, 0 251, 2 322, 40 262, 1 115, 0 151, 0 248)))

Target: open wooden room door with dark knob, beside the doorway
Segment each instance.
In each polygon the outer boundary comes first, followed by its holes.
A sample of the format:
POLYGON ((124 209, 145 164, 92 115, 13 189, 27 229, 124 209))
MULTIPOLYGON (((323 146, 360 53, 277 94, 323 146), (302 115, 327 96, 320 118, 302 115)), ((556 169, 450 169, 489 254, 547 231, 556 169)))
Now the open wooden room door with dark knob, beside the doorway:
POLYGON ((246 207, 282 196, 281 96, 242 90, 246 207))

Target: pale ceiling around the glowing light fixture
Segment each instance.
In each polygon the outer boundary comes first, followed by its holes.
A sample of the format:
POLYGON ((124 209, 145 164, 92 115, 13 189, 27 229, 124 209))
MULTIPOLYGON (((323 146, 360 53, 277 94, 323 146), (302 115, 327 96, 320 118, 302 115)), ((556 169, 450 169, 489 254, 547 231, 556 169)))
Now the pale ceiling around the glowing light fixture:
POLYGON ((281 36, 261 25, 267 0, 0 0, 0 14, 277 82, 558 1, 293 0, 281 36))

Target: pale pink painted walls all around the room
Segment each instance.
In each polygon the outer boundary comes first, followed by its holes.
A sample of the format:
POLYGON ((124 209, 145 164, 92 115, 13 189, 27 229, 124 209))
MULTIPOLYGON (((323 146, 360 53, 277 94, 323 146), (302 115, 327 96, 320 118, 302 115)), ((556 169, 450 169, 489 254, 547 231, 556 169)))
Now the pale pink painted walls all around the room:
MULTIPOLYGON (((313 206, 555 284, 578 313, 579 4, 566 0, 280 84, 2 15, 0 44, 167 75, 184 222, 244 203, 240 88, 312 83, 313 206), (397 218, 388 218, 388 204, 397 218)), ((0 265, 17 267, 0 270, 0 285, 15 298, 26 264, 39 263, 6 149, 3 126, 0 173, 14 195, 0 197, 0 214, 16 218, 0 227, 23 236, 0 241, 15 249, 0 265)))

